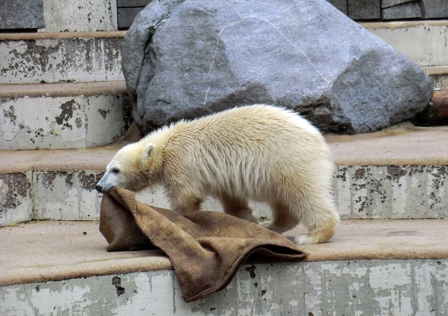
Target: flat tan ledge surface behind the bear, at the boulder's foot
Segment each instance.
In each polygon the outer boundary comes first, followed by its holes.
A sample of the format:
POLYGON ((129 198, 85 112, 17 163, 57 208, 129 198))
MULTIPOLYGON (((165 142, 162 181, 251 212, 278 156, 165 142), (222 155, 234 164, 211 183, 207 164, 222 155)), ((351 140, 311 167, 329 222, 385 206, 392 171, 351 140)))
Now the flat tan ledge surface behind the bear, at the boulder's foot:
MULTIPOLYGON (((405 123, 381 132, 325 137, 338 166, 448 165, 447 126, 414 127, 405 123)), ((102 172, 125 144, 85 150, 0 151, 0 174, 30 170, 102 172)))

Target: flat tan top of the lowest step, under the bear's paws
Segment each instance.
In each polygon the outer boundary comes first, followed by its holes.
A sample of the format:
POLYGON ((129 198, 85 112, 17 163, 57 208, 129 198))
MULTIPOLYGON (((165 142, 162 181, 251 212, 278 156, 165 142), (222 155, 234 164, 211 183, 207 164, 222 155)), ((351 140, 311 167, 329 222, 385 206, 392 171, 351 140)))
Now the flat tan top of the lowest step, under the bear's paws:
MULTIPOLYGON (((330 242, 303 248, 306 261, 445 259, 447 225, 448 220, 347 220, 330 242)), ((21 224, 1 228, 0 238, 0 286, 172 268, 159 250, 107 252, 98 222, 21 224)))

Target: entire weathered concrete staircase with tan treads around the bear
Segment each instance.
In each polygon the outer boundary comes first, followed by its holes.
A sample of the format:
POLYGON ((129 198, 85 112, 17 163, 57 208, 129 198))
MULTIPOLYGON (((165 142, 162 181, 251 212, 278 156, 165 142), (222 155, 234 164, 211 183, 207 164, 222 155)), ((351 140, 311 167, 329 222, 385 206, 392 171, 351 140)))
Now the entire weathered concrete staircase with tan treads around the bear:
MULTIPOLYGON (((448 88, 448 21, 361 25, 448 88)), ((249 260, 226 292, 186 304, 160 251, 107 253, 94 187, 139 137, 124 134, 124 34, 0 33, 0 315, 446 315, 447 127, 326 135, 336 235, 305 262, 249 260)), ((158 188, 138 198, 169 206, 158 188)))

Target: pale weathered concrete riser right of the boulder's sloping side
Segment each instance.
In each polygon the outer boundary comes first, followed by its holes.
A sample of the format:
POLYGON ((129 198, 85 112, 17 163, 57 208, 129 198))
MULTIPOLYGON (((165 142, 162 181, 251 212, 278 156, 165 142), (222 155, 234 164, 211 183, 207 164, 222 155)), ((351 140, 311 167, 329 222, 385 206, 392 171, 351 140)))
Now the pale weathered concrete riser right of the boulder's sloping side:
POLYGON ((448 65, 448 21, 360 23, 422 67, 448 65))

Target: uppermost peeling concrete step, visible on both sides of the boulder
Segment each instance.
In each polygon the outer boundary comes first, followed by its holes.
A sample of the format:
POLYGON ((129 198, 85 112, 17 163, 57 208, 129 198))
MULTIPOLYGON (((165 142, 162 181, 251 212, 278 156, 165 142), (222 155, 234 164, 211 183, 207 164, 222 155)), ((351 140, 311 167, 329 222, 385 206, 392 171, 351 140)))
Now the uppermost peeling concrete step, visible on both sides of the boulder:
MULTIPOLYGON (((448 20, 360 23, 448 88, 448 20), (434 69, 434 67, 437 67, 434 69), (428 68, 428 69, 426 69, 428 68)), ((0 34, 0 83, 122 80, 125 31, 0 34)))

